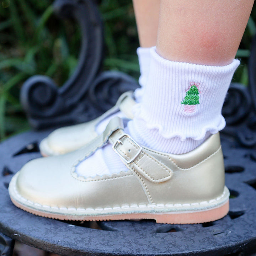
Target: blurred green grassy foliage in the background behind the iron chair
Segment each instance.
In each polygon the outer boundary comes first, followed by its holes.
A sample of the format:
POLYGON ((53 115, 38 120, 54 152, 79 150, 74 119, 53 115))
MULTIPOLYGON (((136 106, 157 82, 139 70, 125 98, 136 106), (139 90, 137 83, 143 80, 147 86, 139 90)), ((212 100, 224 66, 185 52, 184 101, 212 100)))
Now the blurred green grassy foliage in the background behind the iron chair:
MULTIPOLYGON (((62 85, 75 69, 80 30, 74 21, 53 14, 53 0, 0 0, 0 139, 28 129, 19 103, 22 83, 32 75, 48 75, 62 85)), ((139 46, 131 0, 102 0, 105 23, 105 69, 126 72, 136 79, 139 46)), ((234 81, 248 84, 247 60, 256 32, 256 11, 248 22, 237 57, 242 65, 234 81)))

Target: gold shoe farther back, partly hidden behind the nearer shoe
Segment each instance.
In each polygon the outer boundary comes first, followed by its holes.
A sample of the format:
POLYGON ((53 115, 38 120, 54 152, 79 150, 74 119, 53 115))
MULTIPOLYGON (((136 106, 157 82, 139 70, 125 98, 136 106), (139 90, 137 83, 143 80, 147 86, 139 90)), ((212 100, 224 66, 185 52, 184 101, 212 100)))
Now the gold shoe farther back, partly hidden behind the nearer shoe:
POLYGON ((98 136, 97 125, 105 118, 121 111, 129 119, 133 118, 132 107, 135 105, 131 91, 123 93, 115 106, 100 117, 86 123, 62 127, 54 130, 39 144, 42 156, 62 155, 85 146, 98 136))

